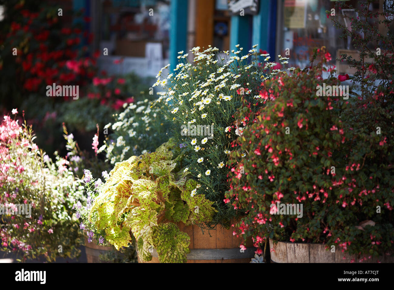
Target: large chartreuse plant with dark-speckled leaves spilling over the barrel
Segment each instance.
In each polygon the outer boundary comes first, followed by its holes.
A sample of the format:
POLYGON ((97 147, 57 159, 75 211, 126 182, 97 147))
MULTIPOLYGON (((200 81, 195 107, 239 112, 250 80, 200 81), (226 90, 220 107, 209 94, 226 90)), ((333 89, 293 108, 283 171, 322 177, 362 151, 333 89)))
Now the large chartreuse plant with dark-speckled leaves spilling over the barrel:
POLYGON ((151 260, 149 249, 154 247, 160 262, 186 262, 190 238, 174 223, 212 220, 213 202, 203 194, 191 196, 197 182, 187 173, 173 173, 178 161, 171 160, 175 148, 170 140, 156 152, 130 157, 111 170, 89 217, 117 249, 131 241, 131 230, 144 260, 151 260))

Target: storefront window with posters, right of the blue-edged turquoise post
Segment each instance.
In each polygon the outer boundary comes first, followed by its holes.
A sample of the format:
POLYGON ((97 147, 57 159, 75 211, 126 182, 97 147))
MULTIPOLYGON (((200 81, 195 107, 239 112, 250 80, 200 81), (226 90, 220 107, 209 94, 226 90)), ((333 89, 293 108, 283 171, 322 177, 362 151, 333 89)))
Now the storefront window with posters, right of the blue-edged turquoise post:
MULTIPOLYGON (((314 47, 325 46, 331 54, 331 64, 337 67, 338 73, 354 73, 348 64, 336 62, 339 54, 351 54, 357 57, 357 50, 352 39, 340 38, 342 30, 334 27, 333 21, 327 18, 326 10, 335 7, 331 0, 281 0, 278 17, 282 23, 278 25, 277 51, 282 56, 289 56, 289 65, 304 68, 309 64, 309 56, 314 47), (287 54, 286 54, 287 52, 287 54)), ((346 4, 357 7, 358 1, 349 0, 346 4)), ((383 1, 380 1, 383 2, 383 1)), ((378 11, 383 4, 375 1, 371 11, 378 11)), ((340 15, 357 18, 353 9, 335 11, 340 15)), ((349 27, 349 20, 338 17, 342 24, 349 27)))

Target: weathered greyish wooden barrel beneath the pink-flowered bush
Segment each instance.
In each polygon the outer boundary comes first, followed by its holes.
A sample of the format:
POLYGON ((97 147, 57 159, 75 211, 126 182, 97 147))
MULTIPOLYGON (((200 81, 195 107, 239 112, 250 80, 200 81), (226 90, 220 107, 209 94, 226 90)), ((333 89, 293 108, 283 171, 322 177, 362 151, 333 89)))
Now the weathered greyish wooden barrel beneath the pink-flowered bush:
MULTIPOLYGON (((359 263, 362 257, 350 256, 342 253, 338 247, 333 253, 330 249, 326 250, 324 244, 312 243, 290 243, 282 242, 273 243, 269 240, 269 248, 271 250, 271 262, 273 263, 359 263)), ((394 256, 381 256, 379 258, 372 257, 363 261, 364 263, 393 263, 394 256)))

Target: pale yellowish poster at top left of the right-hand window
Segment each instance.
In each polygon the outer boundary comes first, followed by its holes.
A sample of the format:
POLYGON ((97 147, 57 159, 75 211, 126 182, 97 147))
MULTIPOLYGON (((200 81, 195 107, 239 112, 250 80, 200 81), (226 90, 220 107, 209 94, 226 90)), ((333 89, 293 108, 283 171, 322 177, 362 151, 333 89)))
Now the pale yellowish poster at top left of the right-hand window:
POLYGON ((307 0, 285 0, 283 7, 284 27, 305 28, 307 0))

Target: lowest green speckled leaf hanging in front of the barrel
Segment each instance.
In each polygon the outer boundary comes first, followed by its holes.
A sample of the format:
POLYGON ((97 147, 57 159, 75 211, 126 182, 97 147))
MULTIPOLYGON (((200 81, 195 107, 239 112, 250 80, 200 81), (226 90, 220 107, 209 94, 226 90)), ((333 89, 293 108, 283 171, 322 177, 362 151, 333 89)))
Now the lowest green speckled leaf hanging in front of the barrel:
POLYGON ((152 241, 160 263, 186 263, 190 237, 173 223, 162 223, 152 231, 152 241))

